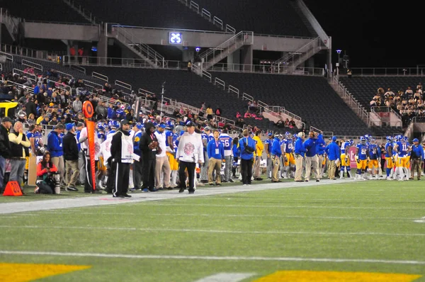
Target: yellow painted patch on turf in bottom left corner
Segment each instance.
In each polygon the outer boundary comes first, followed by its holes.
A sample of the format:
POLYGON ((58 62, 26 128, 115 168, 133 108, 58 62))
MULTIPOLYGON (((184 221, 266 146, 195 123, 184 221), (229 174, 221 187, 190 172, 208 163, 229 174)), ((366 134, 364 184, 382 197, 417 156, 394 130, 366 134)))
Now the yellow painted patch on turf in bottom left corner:
POLYGON ((2 264, 0 263, 0 281, 25 282, 48 276, 69 273, 91 266, 64 264, 2 264))

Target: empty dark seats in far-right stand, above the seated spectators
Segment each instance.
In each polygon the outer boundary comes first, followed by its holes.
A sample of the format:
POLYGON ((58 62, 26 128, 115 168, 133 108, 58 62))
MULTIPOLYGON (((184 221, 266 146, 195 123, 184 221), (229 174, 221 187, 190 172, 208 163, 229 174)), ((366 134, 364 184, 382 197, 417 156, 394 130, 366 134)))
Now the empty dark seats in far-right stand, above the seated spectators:
POLYGON ((421 78, 418 77, 375 77, 375 76, 353 76, 351 79, 348 77, 340 77, 341 81, 346 89, 357 99, 359 103, 368 111, 370 111, 370 101, 373 96, 378 92, 378 88, 382 87, 386 92, 388 88, 391 89, 395 94, 397 91, 406 91, 407 86, 411 86, 412 90, 415 91, 416 85, 421 82, 421 78))

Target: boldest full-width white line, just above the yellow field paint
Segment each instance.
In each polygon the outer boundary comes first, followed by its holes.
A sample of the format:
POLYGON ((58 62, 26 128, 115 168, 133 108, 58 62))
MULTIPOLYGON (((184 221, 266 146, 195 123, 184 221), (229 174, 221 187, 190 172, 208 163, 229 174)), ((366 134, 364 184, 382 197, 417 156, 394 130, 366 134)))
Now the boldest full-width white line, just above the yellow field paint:
POLYGON ((268 256, 174 256, 155 254, 100 254, 100 253, 69 253, 69 252, 31 252, 31 251, 7 251, 0 250, 0 254, 21 254, 34 256, 89 256, 120 259, 198 259, 208 261, 313 261, 313 262, 359 262, 373 264, 419 264, 425 261, 404 261, 390 259, 331 259, 331 258, 308 258, 308 257, 268 257, 268 256))

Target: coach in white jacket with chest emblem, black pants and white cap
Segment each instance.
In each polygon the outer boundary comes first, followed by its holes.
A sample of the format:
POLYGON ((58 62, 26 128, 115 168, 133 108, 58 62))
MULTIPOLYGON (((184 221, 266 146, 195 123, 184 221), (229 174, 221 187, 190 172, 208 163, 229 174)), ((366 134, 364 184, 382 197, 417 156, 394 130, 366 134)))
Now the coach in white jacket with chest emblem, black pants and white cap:
POLYGON ((179 140, 179 147, 177 148, 176 159, 179 160, 179 178, 180 190, 183 193, 186 189, 186 168, 188 169, 189 176, 189 194, 195 193, 194 178, 196 163, 203 164, 203 144, 200 134, 195 132, 195 124, 191 121, 186 123, 188 129, 181 135, 179 140))

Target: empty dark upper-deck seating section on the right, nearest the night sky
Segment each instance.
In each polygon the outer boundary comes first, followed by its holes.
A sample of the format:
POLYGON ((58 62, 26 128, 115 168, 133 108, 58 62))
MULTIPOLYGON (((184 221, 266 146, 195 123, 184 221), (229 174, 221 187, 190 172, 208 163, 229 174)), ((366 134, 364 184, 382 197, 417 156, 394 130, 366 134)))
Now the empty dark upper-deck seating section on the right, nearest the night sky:
POLYGON ((316 37, 307 23, 302 21, 290 0, 197 0, 200 6, 221 18, 236 30, 252 30, 254 33, 316 37))

